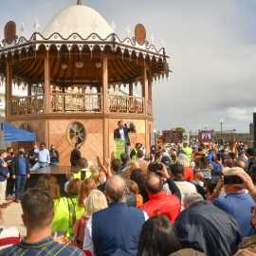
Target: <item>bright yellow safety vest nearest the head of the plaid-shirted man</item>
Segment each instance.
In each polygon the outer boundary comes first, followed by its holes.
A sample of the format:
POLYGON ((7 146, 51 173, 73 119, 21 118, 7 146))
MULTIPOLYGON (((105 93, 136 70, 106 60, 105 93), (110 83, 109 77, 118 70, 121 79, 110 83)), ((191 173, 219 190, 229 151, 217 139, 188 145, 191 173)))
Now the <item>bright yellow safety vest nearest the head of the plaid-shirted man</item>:
POLYGON ((55 216, 52 220, 51 231, 62 231, 68 233, 69 228, 69 210, 68 202, 65 197, 54 199, 55 216))

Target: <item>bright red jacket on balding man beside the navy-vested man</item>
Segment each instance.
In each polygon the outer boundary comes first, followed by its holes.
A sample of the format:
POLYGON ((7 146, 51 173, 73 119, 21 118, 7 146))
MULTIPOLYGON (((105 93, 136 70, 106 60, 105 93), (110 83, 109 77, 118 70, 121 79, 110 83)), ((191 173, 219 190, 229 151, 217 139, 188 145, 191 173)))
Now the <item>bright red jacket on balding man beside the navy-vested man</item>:
POLYGON ((139 208, 146 211, 149 217, 155 214, 165 214, 174 224, 176 216, 180 213, 180 201, 174 194, 167 195, 166 191, 149 194, 150 200, 139 208))

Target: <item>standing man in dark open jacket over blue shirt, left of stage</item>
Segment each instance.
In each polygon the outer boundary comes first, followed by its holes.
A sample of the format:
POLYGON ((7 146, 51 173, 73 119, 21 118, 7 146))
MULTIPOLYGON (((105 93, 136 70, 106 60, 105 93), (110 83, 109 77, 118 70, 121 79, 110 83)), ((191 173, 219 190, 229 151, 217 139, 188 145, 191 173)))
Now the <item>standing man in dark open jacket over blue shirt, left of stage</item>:
POLYGON ((19 148, 19 155, 15 155, 11 162, 11 177, 15 179, 15 202, 19 203, 25 192, 27 178, 29 178, 29 163, 24 155, 24 148, 19 148))

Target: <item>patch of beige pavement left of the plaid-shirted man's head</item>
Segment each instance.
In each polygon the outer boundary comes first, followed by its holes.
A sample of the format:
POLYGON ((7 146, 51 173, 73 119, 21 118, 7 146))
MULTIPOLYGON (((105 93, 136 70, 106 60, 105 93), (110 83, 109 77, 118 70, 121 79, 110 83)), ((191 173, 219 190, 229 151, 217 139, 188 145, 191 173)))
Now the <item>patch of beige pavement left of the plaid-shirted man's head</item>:
POLYGON ((26 227, 22 222, 21 203, 9 201, 10 206, 6 209, 1 209, 4 216, 4 228, 15 227, 19 230, 21 237, 26 236, 26 227))

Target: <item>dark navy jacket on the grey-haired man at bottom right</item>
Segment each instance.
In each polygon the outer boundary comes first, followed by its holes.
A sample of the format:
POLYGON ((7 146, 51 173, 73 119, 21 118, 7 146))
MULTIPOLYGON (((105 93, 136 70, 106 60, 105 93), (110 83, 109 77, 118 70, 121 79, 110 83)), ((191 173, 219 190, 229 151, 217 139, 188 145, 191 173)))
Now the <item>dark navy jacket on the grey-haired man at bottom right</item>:
POLYGON ((234 255, 242 242, 237 221, 210 201, 201 200, 182 210, 174 227, 183 248, 193 248, 208 256, 234 255))

